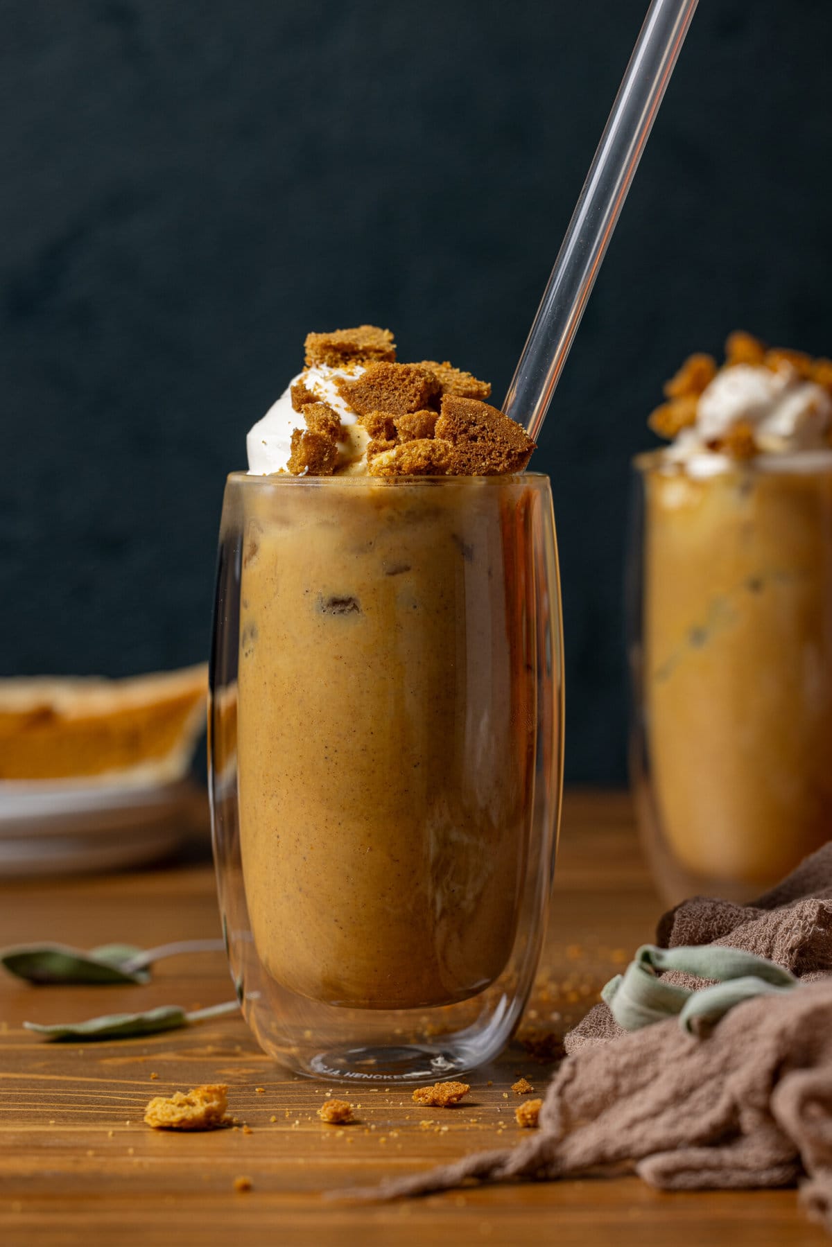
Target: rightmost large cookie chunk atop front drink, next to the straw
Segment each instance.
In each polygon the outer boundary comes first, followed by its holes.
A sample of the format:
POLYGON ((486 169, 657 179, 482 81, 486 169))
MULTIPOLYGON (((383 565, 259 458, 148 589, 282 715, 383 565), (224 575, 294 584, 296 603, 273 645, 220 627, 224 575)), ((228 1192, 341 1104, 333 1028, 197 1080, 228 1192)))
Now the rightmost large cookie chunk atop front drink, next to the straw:
POLYGON ((445 394, 437 420, 437 440, 449 441, 454 476, 493 476, 523 471, 535 443, 525 429, 488 403, 445 394))

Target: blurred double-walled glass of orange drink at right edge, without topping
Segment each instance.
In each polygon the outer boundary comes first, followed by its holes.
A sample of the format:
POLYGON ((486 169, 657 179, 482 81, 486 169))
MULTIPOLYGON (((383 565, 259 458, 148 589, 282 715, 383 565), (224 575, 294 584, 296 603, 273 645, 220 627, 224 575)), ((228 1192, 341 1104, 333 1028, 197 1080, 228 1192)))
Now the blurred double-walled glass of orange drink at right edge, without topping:
POLYGON ((670 903, 750 900, 832 834, 832 454, 636 469, 645 844, 670 903))

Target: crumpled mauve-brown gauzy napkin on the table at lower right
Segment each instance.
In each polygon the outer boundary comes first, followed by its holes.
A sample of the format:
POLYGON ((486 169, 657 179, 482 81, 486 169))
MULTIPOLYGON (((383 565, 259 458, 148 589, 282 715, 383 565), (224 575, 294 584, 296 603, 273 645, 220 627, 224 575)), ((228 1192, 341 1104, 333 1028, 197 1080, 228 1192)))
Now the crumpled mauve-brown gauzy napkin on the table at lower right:
POLYGON ((737 1005, 702 1038, 676 1019, 629 1033, 596 1005, 566 1036, 570 1055, 534 1137, 353 1193, 634 1167, 664 1190, 783 1186, 803 1175, 810 1212, 832 1231, 832 843, 753 905, 686 900, 660 920, 657 943, 742 948, 802 983, 737 1005))

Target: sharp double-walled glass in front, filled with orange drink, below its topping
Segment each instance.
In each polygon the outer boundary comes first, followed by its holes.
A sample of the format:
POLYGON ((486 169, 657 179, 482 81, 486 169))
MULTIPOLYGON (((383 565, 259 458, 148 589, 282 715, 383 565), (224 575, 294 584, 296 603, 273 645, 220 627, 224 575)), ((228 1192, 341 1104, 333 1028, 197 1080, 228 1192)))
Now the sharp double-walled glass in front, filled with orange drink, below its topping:
POLYGON ((329 1081, 488 1061, 560 809, 548 479, 231 475, 211 686, 220 904, 263 1049, 329 1081))

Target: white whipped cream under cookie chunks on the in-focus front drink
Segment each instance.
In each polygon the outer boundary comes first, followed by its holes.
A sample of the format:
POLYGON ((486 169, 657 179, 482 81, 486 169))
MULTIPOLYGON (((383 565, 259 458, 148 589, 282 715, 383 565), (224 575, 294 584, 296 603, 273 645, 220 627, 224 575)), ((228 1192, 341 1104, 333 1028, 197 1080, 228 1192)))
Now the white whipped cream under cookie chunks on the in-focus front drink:
POLYGON ((358 416, 349 404, 336 389, 338 377, 348 377, 356 380, 365 372, 359 365, 349 372, 346 368, 328 368, 318 364, 307 368, 297 377, 293 377, 283 390, 277 403, 269 407, 262 420, 258 420, 246 436, 246 450, 248 454, 248 475, 268 476, 272 473, 286 470, 292 454, 292 431, 304 429, 303 415, 292 407, 292 385, 303 382, 307 390, 314 395, 317 403, 326 403, 337 414, 344 429, 344 439, 338 443, 339 464, 348 473, 365 470, 362 468, 362 456, 367 446, 368 436, 359 425, 358 416))

